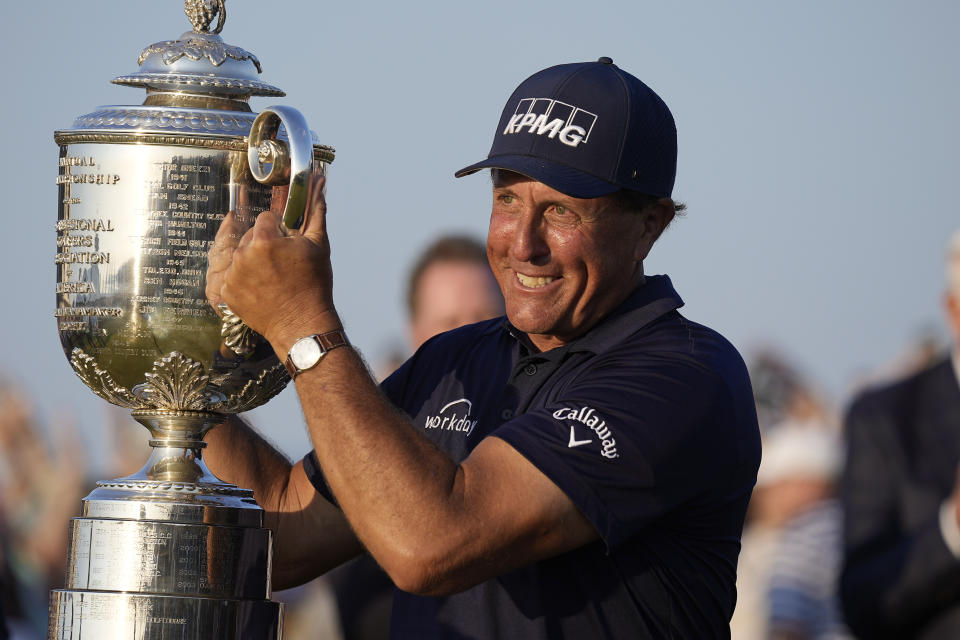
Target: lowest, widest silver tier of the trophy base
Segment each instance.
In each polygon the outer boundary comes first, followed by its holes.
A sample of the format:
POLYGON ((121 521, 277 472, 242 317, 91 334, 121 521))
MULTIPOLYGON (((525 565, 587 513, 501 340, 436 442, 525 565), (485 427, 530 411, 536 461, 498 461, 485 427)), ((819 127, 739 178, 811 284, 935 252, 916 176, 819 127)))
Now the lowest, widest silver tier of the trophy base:
POLYGON ((280 640, 283 605, 57 589, 47 640, 280 640))

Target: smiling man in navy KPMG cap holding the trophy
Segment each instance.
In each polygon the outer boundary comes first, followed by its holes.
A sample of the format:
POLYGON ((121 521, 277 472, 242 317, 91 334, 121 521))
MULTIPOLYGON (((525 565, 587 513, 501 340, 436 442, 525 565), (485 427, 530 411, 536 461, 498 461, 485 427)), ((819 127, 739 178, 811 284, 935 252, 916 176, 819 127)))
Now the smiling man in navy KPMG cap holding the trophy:
POLYGON ((739 354, 643 272, 675 212, 670 111, 609 58, 551 67, 457 175, 481 168, 506 320, 382 391, 340 348, 322 182, 302 234, 261 214, 221 293, 293 349, 315 450, 291 467, 234 423, 211 467, 269 512, 278 585, 369 550, 397 638, 729 637, 759 435, 739 354))

